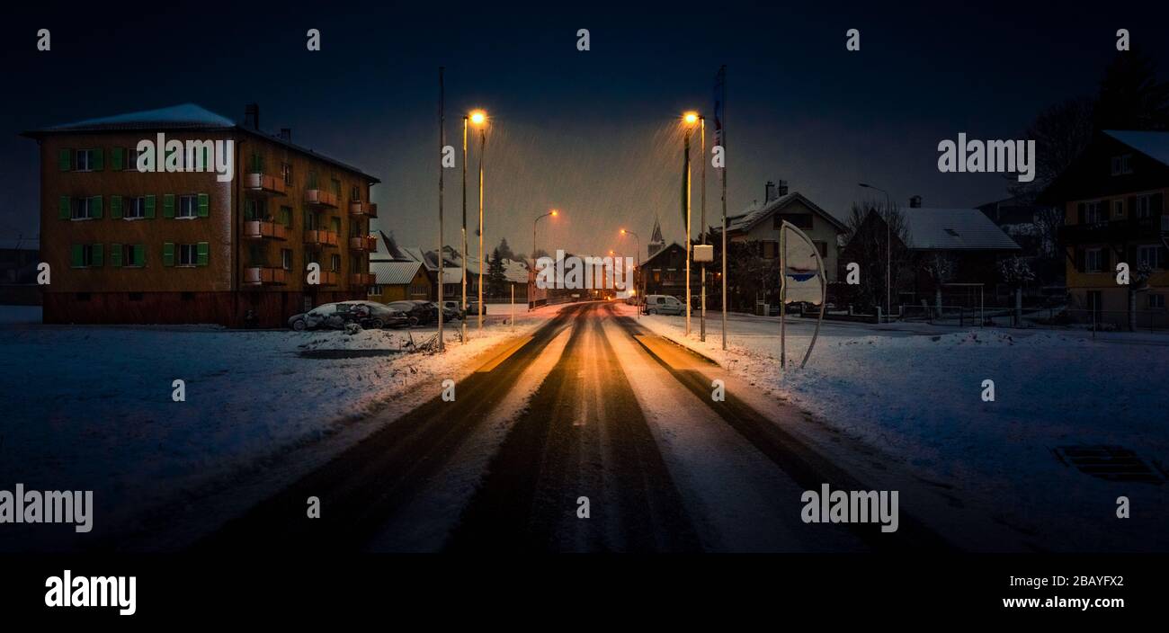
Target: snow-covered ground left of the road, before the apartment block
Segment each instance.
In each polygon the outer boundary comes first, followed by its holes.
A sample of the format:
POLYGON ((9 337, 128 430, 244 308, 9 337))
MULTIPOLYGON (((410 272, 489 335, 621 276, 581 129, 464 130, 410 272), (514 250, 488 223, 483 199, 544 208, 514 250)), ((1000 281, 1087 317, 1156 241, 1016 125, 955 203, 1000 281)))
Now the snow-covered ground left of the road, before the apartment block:
POLYGON ((472 321, 466 345, 457 341, 456 322, 445 331, 443 355, 409 353, 410 340, 433 338, 434 327, 350 335, 4 326, 0 487, 94 489, 99 512, 106 510, 102 519, 117 522, 124 513, 359 426, 373 411, 392 419, 408 410, 401 402, 407 395, 422 387, 437 395, 444 378, 461 380, 477 357, 559 309, 517 309, 514 328, 497 318, 482 334, 472 321), (186 402, 172 401, 174 380, 186 382, 186 402))

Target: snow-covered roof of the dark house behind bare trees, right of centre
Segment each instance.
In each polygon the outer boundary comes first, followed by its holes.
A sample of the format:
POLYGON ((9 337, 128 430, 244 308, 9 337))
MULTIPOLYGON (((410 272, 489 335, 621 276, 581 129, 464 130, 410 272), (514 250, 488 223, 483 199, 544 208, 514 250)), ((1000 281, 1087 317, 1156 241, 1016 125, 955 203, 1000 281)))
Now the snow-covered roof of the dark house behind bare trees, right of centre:
POLYGON ((978 209, 902 208, 914 250, 1021 250, 978 209))

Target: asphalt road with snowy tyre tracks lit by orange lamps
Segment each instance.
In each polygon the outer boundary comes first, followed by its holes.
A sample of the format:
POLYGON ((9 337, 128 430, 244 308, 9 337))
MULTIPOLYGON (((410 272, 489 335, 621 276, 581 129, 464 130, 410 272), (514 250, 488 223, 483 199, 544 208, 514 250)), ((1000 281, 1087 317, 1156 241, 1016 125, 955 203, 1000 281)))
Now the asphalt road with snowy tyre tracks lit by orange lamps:
POLYGON ((195 548, 397 549, 406 531, 427 533, 421 549, 450 551, 948 548, 904 508, 893 534, 804 523, 802 491, 870 488, 784 429, 797 410, 760 412, 736 395, 743 388, 607 304, 566 306, 485 359, 455 402, 436 388, 195 548), (713 378, 727 382, 725 401, 711 397, 713 378), (511 412, 525 382, 532 392, 511 412), (492 430, 498 441, 484 440, 492 430), (448 484, 480 461, 470 485, 448 484), (320 519, 306 517, 310 496, 320 519))

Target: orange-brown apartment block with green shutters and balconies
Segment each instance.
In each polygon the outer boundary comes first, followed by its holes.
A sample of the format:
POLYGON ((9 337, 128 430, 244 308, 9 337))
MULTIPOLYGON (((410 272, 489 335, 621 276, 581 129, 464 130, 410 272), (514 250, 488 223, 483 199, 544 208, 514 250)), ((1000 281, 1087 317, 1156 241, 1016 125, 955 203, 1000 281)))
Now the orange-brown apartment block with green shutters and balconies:
POLYGON ((264 132, 255 104, 242 124, 185 104, 23 135, 41 149, 47 324, 278 327, 314 305, 365 298, 374 283, 378 179, 293 144, 291 130, 264 132), (159 134, 231 141, 229 180, 139 172, 139 141, 159 134))

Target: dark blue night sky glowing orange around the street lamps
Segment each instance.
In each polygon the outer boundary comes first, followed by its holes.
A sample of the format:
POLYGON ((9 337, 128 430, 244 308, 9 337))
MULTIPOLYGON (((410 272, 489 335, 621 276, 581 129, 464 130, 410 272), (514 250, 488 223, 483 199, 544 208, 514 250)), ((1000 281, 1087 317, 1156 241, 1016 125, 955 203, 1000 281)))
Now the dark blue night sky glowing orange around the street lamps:
MULTIPOLYGON (((1094 93, 1118 28, 1169 72, 1169 12, 1151 2, 638 5, 18 6, 0 64, 0 239, 39 231, 37 147, 19 132, 187 102, 241 119, 257 102, 263 127, 291 127, 293 141, 380 178, 374 227, 433 249, 440 65, 449 144, 459 145, 463 112, 482 106, 492 117, 486 242, 506 237, 525 253, 532 218, 553 207, 563 213, 541 222, 544 249, 631 253, 617 235, 628 227, 644 252, 655 214, 666 239, 680 242, 678 116, 710 113, 720 64, 728 213, 784 179, 839 217, 865 196, 858 181, 902 204, 914 194, 926 207, 1005 197, 999 175, 940 174, 938 142, 959 132, 1022 138, 1043 107, 1094 93), (51 30, 49 53, 35 49, 39 28, 51 30), (319 53, 305 49, 310 28, 321 32, 319 53), (590 30, 589 51, 576 50, 580 28, 590 30), (845 50, 849 28, 860 29, 859 53, 845 50)), ((459 176, 448 171, 449 243, 459 176)), ((697 231, 697 165, 694 179, 697 231)), ((714 223, 713 171, 708 179, 714 223)))

